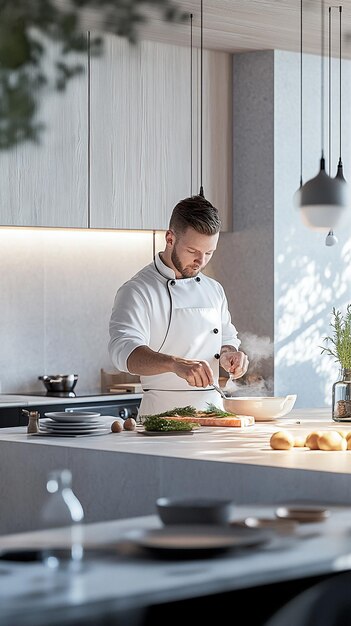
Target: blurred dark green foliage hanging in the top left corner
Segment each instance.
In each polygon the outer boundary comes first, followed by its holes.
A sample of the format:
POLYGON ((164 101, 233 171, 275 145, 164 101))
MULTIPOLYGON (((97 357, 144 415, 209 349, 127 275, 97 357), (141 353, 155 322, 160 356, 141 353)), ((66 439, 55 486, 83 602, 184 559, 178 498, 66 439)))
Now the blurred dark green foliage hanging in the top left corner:
MULTIPOLYGON (((84 12, 98 12, 99 30, 136 44, 140 27, 148 22, 148 8, 169 22, 189 18, 174 0, 0 0, 0 150, 28 140, 38 143, 44 126, 36 117, 44 86, 50 82, 62 92, 84 71, 84 12), (42 67, 44 40, 58 47, 55 76, 46 76, 42 67), (72 52, 82 55, 82 64, 72 62, 72 52)), ((102 50, 101 37, 91 37, 90 54, 102 50)))

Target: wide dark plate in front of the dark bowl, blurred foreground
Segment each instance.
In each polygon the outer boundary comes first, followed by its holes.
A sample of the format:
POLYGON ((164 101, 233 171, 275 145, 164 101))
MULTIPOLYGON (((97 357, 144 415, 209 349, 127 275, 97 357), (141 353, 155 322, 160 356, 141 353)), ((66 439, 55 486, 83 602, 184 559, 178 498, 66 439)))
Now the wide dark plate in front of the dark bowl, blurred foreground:
POLYGON ((266 543, 268 530, 215 525, 175 525, 146 530, 132 541, 153 556, 167 559, 207 558, 266 543))

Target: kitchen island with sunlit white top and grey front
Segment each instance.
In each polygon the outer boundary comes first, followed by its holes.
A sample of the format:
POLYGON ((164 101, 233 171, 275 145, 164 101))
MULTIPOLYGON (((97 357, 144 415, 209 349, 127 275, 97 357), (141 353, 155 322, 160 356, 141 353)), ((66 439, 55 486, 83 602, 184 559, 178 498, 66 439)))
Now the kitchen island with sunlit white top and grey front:
POLYGON ((270 436, 282 428, 297 436, 348 431, 351 423, 333 422, 329 409, 296 409, 276 421, 240 429, 202 427, 192 435, 123 431, 71 438, 1 429, 0 492, 6 506, 0 533, 40 528, 47 473, 65 467, 87 522, 153 514, 159 496, 351 505, 351 451, 272 450, 270 436))

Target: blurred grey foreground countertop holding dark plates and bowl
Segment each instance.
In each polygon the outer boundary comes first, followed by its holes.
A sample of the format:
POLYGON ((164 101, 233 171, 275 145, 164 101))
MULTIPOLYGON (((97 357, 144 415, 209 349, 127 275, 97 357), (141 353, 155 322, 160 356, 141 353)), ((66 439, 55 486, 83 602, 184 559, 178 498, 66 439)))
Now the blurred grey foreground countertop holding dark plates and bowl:
MULTIPOLYGON (((274 518, 274 508, 240 506, 233 521, 248 515, 274 518)), ((117 623, 124 625, 128 624, 128 619, 123 621, 128 609, 349 569, 350 520, 350 508, 332 507, 327 520, 301 524, 291 535, 276 534, 268 543, 254 549, 190 561, 156 560, 128 551, 119 554, 118 542, 133 529, 147 531, 161 526, 155 515, 89 524, 85 527, 85 545, 107 544, 111 556, 105 560, 103 556, 88 560, 79 573, 61 573, 55 577, 48 575, 40 562, 0 561, 0 625, 56 624, 61 611, 62 623, 66 623, 64 618, 69 618, 70 611, 73 615, 78 607, 86 606, 91 617, 95 605, 97 615, 98 611, 100 615, 106 611, 115 616, 121 612, 121 621, 117 618, 117 623)), ((2 536, 0 550, 40 548, 53 540, 66 545, 68 532, 59 529, 2 536)), ((236 608, 237 602, 240 594, 236 596, 236 608)), ((250 617, 254 606, 245 610, 250 617)))

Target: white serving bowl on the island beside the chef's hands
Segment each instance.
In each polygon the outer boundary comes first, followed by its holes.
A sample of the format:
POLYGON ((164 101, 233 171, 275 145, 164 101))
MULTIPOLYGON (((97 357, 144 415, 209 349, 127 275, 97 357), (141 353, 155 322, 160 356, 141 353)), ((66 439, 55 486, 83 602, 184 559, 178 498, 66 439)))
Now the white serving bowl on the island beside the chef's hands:
POLYGON ((256 422, 269 422, 290 413, 297 395, 282 397, 269 396, 231 396, 223 399, 225 411, 237 415, 253 415, 256 422))

